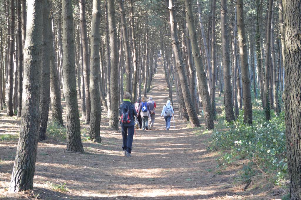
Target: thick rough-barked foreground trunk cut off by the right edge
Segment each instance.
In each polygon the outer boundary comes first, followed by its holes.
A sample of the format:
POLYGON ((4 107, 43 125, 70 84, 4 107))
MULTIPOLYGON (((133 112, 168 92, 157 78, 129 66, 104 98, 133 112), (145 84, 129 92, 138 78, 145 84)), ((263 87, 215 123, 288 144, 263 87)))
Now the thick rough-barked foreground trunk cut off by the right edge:
POLYGON ((301 199, 301 2, 284 0, 285 27, 285 125, 287 163, 290 174, 290 200, 301 199))

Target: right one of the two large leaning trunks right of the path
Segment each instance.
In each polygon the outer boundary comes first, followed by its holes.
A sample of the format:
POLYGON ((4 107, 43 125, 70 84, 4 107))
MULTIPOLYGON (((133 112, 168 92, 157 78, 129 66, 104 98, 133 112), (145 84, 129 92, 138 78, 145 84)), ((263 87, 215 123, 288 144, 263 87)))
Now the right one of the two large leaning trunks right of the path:
MULTIPOLYGON (((214 128, 213 124, 213 116, 212 116, 212 109, 210 104, 210 96, 208 92, 208 86, 206 81, 205 72, 203 69, 203 64, 200 59, 200 51, 198 49, 197 43, 197 32, 194 26, 194 18, 192 13, 192 2, 189 0, 185 0, 185 7, 186 7, 186 21, 188 24, 189 32, 191 33, 191 48, 192 48, 192 55, 194 58, 194 63, 197 69, 197 76, 199 78, 200 84, 200 93, 203 100, 203 109, 204 109, 204 119, 205 119, 205 129, 211 130, 214 128), (193 33, 193 34, 192 34, 193 33)), ((189 114, 189 111, 188 111, 189 114)))

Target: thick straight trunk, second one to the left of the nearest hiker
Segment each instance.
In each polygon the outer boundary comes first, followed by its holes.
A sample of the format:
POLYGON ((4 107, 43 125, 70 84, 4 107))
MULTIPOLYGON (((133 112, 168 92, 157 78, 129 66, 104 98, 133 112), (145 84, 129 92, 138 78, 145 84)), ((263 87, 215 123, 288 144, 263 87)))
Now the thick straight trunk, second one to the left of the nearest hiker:
POLYGON ((92 24, 91 24, 91 74, 90 74, 90 94, 91 94, 91 118, 90 118, 90 140, 101 143, 100 137, 100 93, 98 87, 100 60, 99 60, 99 26, 100 26, 100 0, 93 0, 92 24))

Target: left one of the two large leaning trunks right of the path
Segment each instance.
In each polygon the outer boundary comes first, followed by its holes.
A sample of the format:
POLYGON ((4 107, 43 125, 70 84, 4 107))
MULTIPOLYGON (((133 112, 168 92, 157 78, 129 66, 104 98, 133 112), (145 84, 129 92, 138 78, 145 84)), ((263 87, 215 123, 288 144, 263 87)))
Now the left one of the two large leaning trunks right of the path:
POLYGON ((174 0, 169 0, 169 17, 170 17, 170 26, 171 26, 170 32, 171 32, 171 39, 172 39, 172 49, 175 54, 175 60, 176 60, 175 65, 177 67, 178 74, 179 74, 179 80, 183 91, 185 106, 189 115, 191 126, 199 127, 200 122, 191 100, 191 94, 189 92, 189 88, 187 85, 187 78, 185 76, 185 72, 183 68, 182 55, 180 52, 179 41, 178 41, 177 21, 175 19, 174 0))

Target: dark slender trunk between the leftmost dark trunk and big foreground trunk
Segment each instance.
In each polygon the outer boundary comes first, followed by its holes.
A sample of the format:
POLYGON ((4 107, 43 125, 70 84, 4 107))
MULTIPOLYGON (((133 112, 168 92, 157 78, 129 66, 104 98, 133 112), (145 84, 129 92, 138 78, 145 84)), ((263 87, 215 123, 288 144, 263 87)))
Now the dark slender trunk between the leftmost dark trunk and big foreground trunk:
MULTIPOLYGON (((24 5, 23 5, 24 6, 24 5)), ((21 16, 21 0, 17 0, 17 32, 18 32, 18 100, 17 100, 17 116, 21 116, 21 110, 22 110, 22 92, 23 92, 23 43, 22 43, 22 16, 21 16)))

